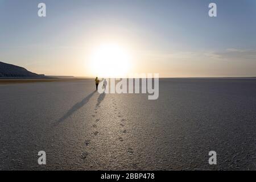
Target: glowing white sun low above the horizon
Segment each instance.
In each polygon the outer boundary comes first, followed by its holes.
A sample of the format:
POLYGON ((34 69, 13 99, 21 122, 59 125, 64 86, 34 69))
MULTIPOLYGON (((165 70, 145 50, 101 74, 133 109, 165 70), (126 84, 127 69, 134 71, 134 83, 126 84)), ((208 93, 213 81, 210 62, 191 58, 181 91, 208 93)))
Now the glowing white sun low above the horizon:
POLYGON ((128 74, 131 55, 122 46, 106 43, 97 46, 91 55, 92 72, 99 77, 118 78, 128 74))

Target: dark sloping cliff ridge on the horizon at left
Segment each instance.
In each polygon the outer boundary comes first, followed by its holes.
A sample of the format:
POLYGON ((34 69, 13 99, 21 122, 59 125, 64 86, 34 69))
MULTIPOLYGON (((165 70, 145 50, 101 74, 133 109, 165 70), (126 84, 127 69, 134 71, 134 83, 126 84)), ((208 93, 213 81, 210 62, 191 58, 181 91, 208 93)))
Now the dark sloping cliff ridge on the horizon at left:
POLYGON ((25 68, 0 61, 0 78, 46 78, 46 76, 38 75, 27 71, 25 68))

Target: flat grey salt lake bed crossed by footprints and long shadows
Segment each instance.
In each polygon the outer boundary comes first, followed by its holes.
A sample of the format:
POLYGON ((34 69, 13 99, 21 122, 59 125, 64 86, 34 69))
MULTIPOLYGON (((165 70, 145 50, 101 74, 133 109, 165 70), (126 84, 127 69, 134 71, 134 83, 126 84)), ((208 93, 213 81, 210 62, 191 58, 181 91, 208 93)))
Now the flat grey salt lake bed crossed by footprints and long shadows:
POLYGON ((256 169, 256 79, 160 79, 158 100, 94 86, 0 85, 0 170, 256 169))

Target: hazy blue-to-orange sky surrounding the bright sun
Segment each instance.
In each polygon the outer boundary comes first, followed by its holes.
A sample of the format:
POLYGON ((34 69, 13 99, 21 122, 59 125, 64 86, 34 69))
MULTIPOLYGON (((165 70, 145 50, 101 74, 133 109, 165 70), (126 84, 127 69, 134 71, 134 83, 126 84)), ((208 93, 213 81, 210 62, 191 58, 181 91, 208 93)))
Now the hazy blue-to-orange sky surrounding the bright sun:
POLYGON ((115 43, 133 73, 256 76, 255 32, 254 0, 0 0, 0 61, 46 75, 95 76, 92 50, 115 43))

